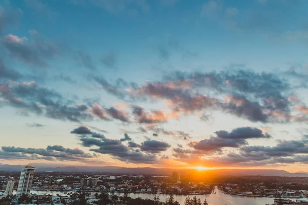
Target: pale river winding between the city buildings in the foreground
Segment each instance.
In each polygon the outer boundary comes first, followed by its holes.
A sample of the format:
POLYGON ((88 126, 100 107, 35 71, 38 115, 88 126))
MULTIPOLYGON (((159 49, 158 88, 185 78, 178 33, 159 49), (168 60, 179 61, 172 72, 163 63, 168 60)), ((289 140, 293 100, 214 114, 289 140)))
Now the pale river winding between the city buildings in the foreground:
MULTIPOLYGON (((198 198, 201 199, 203 202, 204 199, 207 200, 209 205, 265 205, 265 204, 274 204, 274 198, 269 197, 248 197, 248 196, 237 196, 237 195, 230 195, 230 194, 224 194, 220 190, 215 189, 216 194, 207 194, 207 195, 197 195, 198 198)), ((35 191, 31 190, 32 194, 60 194, 65 195, 64 192, 59 191, 35 191)), ((91 192, 92 196, 95 194, 95 192, 91 192)), ((122 196, 123 193, 119 193, 118 195, 122 196)), ((145 194, 145 193, 129 193, 128 194, 132 198, 148 198, 153 199, 155 194, 145 194)), ((166 197, 168 197, 167 194, 159 194, 161 201, 165 201, 166 197)), ((174 195, 175 199, 180 202, 181 205, 184 204, 185 198, 187 195, 174 195)), ((194 197, 193 195, 190 195, 190 198, 194 197)), ((295 199, 293 199, 295 200, 295 199)))

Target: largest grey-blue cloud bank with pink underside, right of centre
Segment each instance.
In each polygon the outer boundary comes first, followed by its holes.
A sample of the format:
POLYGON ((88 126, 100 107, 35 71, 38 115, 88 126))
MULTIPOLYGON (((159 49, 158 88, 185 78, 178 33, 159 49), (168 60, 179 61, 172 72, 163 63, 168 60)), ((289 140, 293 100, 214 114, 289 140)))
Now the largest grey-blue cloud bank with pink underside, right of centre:
POLYGON ((143 96, 167 100, 169 107, 178 114, 220 110, 251 121, 290 121, 295 102, 290 99, 292 91, 285 79, 273 73, 234 67, 208 73, 178 71, 165 76, 162 82, 132 88, 131 95, 135 99, 143 96), (202 95, 201 91, 219 97, 202 95))

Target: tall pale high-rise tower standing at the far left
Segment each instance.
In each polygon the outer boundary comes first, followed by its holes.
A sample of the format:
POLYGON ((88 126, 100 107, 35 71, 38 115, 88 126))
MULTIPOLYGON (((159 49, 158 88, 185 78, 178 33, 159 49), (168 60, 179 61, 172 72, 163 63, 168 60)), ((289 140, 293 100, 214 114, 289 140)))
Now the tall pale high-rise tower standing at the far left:
POLYGON ((28 195, 30 193, 34 171, 35 168, 31 166, 26 166, 23 168, 20 181, 18 183, 17 196, 22 196, 24 194, 28 195))

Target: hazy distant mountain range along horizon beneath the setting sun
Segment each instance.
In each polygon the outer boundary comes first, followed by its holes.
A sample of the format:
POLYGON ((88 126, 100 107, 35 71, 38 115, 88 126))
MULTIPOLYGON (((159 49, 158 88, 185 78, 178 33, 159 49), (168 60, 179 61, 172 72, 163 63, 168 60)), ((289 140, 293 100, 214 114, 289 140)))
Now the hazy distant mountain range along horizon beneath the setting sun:
MULTIPOLYGON (((171 175, 172 171, 180 174, 197 172, 195 169, 170 169, 170 168, 125 168, 125 167, 47 167, 40 165, 32 165, 36 168, 36 172, 96 172, 96 173, 113 173, 113 174, 153 174, 153 175, 171 175)), ((0 163, 0 171, 21 171, 24 165, 4 165, 0 163)), ((308 173, 296 172, 290 173, 284 170, 266 170, 266 169, 219 169, 219 170, 203 170, 204 174, 217 176, 284 176, 284 177, 308 177, 308 173)))

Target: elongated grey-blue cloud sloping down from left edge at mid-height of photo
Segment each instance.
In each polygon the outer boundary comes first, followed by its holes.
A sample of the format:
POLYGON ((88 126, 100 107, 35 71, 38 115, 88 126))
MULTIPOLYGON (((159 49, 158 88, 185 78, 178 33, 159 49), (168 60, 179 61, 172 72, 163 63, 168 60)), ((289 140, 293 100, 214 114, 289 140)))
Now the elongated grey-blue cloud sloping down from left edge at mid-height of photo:
POLYGON ((0 87, 0 95, 6 99, 5 105, 21 109, 26 114, 75 122, 92 119, 86 105, 76 105, 74 101, 66 100, 60 93, 40 87, 34 81, 10 81, 0 87))

